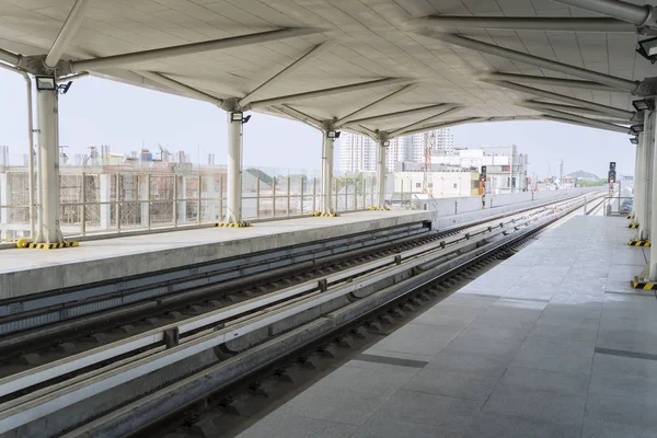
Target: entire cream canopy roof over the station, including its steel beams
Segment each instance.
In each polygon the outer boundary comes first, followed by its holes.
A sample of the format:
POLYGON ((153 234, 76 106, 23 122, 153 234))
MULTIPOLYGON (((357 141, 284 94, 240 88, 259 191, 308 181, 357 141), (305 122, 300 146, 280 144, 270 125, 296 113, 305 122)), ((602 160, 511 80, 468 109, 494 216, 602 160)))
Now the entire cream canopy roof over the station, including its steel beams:
POLYGON ((655 94, 636 53, 653 22, 613 0, 0 0, 0 60, 371 137, 506 119, 627 132, 632 100, 655 94))

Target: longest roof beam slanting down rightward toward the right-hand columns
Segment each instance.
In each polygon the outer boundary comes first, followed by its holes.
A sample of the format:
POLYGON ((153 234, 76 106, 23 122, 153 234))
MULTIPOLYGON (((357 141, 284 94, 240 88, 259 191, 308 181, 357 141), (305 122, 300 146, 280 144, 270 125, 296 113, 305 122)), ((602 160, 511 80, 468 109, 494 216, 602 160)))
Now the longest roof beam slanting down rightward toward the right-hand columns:
POLYGON ((587 79, 590 81, 596 81, 599 83, 607 84, 609 87, 616 88, 619 90, 626 90, 630 92, 635 92, 638 89, 639 83, 636 81, 629 81, 623 78, 616 78, 614 76, 609 76, 604 73, 599 73, 597 71, 591 71, 587 69, 583 69, 579 67, 570 66, 568 64, 553 61, 548 58, 541 58, 534 55, 525 54, 522 51, 511 50, 510 48, 505 48, 500 46, 496 46, 494 44, 484 43, 476 39, 465 38, 464 36, 448 34, 442 32, 436 32, 428 28, 417 28, 413 31, 418 35, 423 35, 429 38, 439 39, 445 43, 453 44, 456 46, 461 46, 465 48, 470 48, 473 50, 483 51, 486 54, 500 56, 503 58, 508 58, 511 60, 520 61, 529 64, 530 66, 535 66, 540 68, 544 68, 548 70, 560 71, 565 74, 570 74, 576 78, 587 79))

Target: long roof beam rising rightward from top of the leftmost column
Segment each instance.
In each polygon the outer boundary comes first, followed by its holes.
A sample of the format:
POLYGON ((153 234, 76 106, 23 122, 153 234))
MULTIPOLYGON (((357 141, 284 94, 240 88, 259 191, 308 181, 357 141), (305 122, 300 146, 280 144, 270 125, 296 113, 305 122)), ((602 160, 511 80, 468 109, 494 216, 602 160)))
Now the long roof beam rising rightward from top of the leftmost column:
POLYGON ((71 70, 79 72, 83 70, 102 70, 112 67, 124 67, 136 62, 153 61, 175 56, 200 54, 210 50, 222 50, 232 47, 241 47, 251 44, 267 43, 285 38, 293 38, 322 32, 316 28, 291 27, 280 28, 270 32, 261 32, 257 34, 249 34, 233 36, 230 38, 212 39, 201 43, 183 44, 181 46, 155 48, 152 50, 134 51, 130 54, 106 56, 102 58, 84 59, 80 61, 71 61, 71 70))

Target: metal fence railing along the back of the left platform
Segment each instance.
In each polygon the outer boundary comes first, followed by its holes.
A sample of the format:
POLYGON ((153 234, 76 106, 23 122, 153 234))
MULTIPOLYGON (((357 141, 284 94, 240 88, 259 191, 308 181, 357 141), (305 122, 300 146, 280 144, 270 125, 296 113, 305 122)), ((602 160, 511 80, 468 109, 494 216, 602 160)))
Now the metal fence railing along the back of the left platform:
MULTIPOLYGON (((0 174, 2 175, 2 174, 0 174)), ((242 178, 242 218, 257 221, 312 215, 321 209, 321 182, 315 175, 250 169, 242 178), (286 175, 287 173, 287 175, 286 175)), ((5 172, 0 180, 0 239, 28 237, 27 174, 5 172)), ((333 180, 337 212, 369 208, 376 201, 376 178, 333 180)), ((227 175, 214 172, 62 172, 60 227, 65 235, 120 233, 220 222, 227 208, 227 175)))

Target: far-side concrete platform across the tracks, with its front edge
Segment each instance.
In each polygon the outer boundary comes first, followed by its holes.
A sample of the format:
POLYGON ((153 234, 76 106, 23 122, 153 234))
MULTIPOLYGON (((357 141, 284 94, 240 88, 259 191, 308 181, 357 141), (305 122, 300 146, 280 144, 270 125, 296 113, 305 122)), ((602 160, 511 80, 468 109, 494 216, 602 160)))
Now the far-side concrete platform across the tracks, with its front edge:
POLYGON ((429 211, 359 211, 85 241, 61 250, 2 250, 0 299, 433 219, 429 211))

